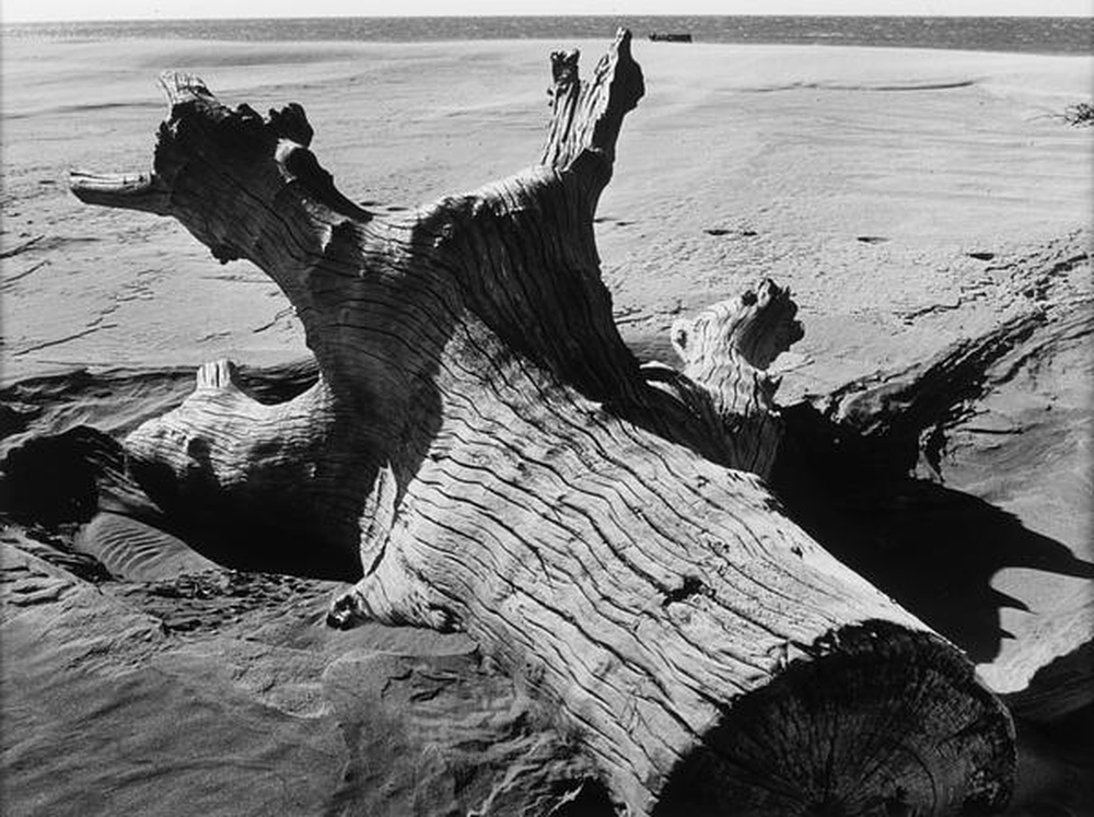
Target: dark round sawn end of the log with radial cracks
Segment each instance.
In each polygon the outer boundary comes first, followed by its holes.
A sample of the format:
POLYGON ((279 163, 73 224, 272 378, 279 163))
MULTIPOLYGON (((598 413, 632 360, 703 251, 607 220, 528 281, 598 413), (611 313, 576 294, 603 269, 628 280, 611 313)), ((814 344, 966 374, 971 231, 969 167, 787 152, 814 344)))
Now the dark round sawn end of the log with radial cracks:
POLYGON ((942 639, 845 628, 743 697, 679 762, 653 814, 993 814, 1011 797, 1014 727, 942 639))

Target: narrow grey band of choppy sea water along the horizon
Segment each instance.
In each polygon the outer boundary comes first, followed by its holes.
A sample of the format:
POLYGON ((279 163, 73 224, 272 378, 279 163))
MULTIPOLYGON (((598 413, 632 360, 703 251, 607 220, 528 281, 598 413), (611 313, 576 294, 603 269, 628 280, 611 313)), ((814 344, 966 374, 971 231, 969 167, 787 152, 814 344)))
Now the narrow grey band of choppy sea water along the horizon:
POLYGON ((168 20, 5 25, 3 36, 244 42, 568 40, 605 38, 619 26, 630 28, 639 37, 653 32, 687 32, 697 43, 1094 54, 1094 23, 1087 17, 462 16, 168 20))

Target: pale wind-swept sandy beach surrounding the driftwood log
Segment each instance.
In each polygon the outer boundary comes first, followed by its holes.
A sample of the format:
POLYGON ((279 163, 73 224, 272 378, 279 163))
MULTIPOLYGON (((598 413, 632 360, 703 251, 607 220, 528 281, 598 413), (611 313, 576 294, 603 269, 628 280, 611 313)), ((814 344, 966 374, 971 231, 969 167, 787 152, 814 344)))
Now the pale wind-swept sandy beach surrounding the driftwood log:
MULTIPOLYGON (((531 164, 548 55, 560 47, 579 47, 589 71, 603 43, 5 39, 0 385, 16 409, 39 409, 4 415, 0 454, 78 424, 128 430, 177 402, 205 361, 259 366, 307 351, 288 301, 257 268, 219 265, 174 221, 69 194, 73 168, 147 170, 164 115, 161 70, 196 73, 222 100, 260 112, 299 102, 338 187, 383 213, 531 164), (75 377, 80 370, 90 375, 75 377), (130 376, 140 371, 158 374, 130 376), (20 392, 27 383, 38 385, 20 392)), ((1031 311, 1078 316, 1052 357, 1015 359, 1005 376, 992 370, 997 380, 954 421, 935 475, 1005 516, 1021 534, 1006 542, 1044 548, 1044 558, 1008 551, 982 576, 991 638, 952 611, 966 596, 944 574, 964 562, 947 564, 930 542, 922 558, 942 563, 900 558, 943 574, 932 580, 943 590, 901 597, 874 581, 968 651, 997 692, 1022 691, 1072 650, 1081 655, 1069 658, 1068 678, 1074 666, 1090 673, 1090 639, 1076 633, 1094 628, 1094 151, 1091 130, 1060 114, 1090 100, 1094 60, 647 42, 635 57, 647 95, 622 130, 596 240, 617 324, 640 357, 672 363, 676 317, 765 277, 792 288, 805 326, 777 363, 787 406, 930 360, 1031 311), (953 631, 932 620, 935 605, 951 610, 935 615, 957 621, 953 631)), ((984 530, 970 526, 963 545, 1006 544, 980 540, 993 536, 984 530)), ((116 592, 96 584, 83 562, 58 567, 40 530, 9 525, 3 547, 11 815, 442 814, 462 801, 451 770, 431 766, 422 747, 445 716, 474 722, 497 765, 538 757, 505 743, 500 715, 475 721, 466 639, 324 630, 334 582, 256 580, 234 595, 191 596, 181 611, 162 597, 150 607, 125 582, 116 592), (261 663, 271 653, 280 674, 261 663), (398 653, 419 658, 391 657, 398 653), (383 700, 383 679, 430 661, 455 679, 450 709, 377 736, 401 705, 383 700), (358 682, 365 669, 368 689, 338 680, 358 682), (347 713, 365 726, 347 733, 347 713), (380 759, 396 752, 416 758, 412 768, 380 759), (372 759, 360 766, 369 771, 351 784, 345 768, 361 758, 372 759)), ((414 700, 415 689, 399 695, 414 700)), ((485 695, 501 707, 511 691, 485 695)), ((1052 687, 1037 695, 1051 710, 1052 687)), ((1008 814, 1094 814, 1081 734, 1094 723, 1091 704, 1064 709, 1063 719, 1020 721, 1008 814)))

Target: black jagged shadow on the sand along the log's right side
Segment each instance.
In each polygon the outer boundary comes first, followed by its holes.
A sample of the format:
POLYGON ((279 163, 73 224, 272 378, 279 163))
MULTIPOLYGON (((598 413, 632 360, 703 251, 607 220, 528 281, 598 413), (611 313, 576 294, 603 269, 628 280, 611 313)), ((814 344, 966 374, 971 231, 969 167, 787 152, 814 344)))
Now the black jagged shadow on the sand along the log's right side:
POLYGON ((1094 563, 1012 514, 906 476, 907 452, 887 441, 859 436, 805 404, 783 417, 771 482, 791 517, 974 663, 992 661, 1010 635, 1000 609, 1025 609, 991 587, 996 573, 1031 568, 1094 579, 1094 563))

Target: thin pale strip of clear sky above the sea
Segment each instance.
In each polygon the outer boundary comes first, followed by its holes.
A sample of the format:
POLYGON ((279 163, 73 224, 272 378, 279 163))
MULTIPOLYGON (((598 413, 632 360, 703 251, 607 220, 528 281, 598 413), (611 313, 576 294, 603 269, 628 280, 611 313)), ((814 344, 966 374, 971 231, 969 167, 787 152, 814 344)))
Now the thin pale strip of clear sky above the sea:
POLYGON ((514 14, 1094 16, 1094 0, 0 0, 0 22, 514 14))

